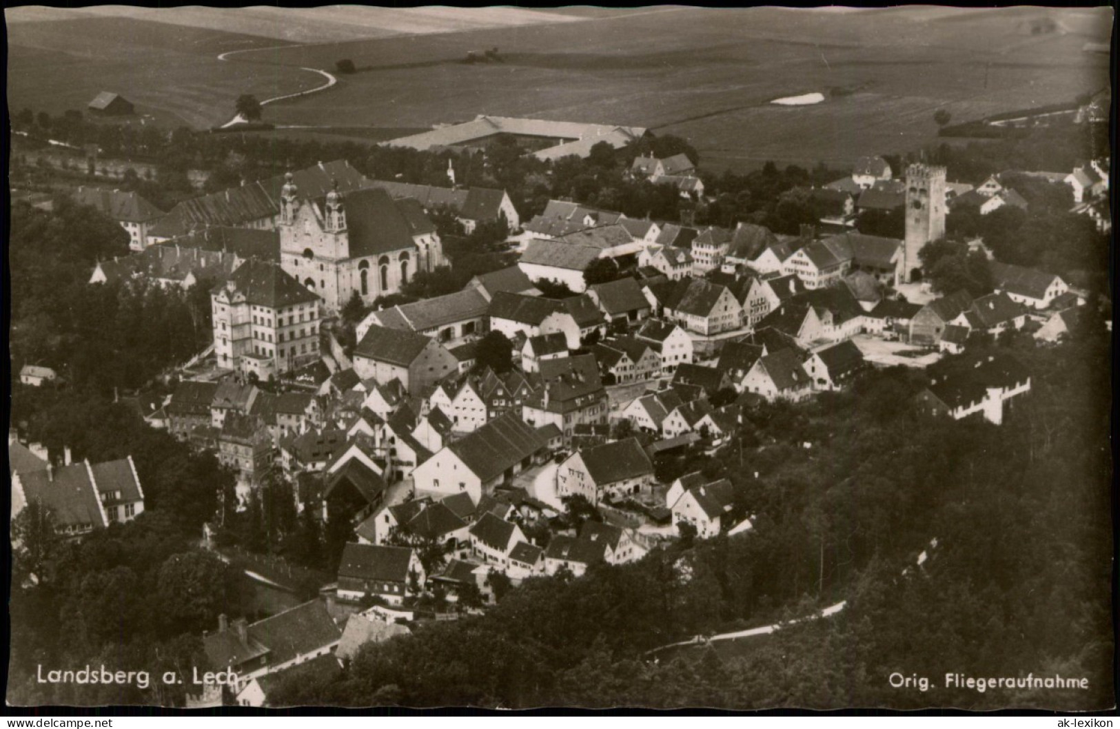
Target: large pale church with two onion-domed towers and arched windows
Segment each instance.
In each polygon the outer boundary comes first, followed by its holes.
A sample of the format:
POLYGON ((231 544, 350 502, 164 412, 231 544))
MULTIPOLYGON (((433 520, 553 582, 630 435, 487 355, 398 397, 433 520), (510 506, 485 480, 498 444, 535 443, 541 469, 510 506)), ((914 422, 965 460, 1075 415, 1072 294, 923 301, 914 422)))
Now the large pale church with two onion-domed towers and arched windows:
POLYGON ((280 263, 338 314, 357 293, 364 303, 400 293, 419 271, 445 265, 436 225, 419 202, 382 189, 343 195, 337 185, 302 198, 291 174, 280 194, 280 263))

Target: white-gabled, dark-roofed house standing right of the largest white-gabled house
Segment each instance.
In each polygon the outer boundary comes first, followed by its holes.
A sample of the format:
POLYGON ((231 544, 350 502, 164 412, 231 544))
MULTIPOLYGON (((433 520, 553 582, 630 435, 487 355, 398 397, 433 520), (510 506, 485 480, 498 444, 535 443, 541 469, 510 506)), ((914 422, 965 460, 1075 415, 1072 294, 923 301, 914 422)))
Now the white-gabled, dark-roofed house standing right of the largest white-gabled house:
POLYGON ((557 495, 591 504, 632 497, 652 484, 653 462, 636 438, 575 452, 557 468, 557 495))

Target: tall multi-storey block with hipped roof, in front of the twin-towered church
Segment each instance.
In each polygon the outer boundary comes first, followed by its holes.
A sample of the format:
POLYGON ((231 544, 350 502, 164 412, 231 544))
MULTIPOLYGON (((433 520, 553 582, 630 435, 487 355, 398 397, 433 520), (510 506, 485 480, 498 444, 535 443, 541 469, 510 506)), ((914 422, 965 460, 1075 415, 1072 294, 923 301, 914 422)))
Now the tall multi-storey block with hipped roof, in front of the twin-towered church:
POLYGON ((319 358, 319 299, 274 263, 245 261, 211 305, 220 367, 268 380, 319 358))

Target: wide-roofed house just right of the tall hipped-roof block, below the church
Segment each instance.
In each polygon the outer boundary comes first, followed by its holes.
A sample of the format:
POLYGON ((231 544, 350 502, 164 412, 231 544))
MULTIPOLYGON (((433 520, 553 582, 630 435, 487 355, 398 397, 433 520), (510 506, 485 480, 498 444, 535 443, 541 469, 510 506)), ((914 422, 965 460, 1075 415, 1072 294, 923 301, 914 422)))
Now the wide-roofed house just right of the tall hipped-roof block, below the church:
POLYGON ((458 372, 458 362, 431 337, 371 325, 354 348, 354 372, 380 383, 399 380, 408 392, 422 396, 458 372))

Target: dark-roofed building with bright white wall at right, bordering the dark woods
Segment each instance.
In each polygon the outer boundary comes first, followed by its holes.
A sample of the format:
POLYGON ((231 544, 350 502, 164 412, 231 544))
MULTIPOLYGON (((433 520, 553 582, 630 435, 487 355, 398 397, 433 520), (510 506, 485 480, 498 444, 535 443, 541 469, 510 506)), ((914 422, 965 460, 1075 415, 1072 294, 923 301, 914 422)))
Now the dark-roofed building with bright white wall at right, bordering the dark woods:
POLYGON ((1030 373, 1018 359, 1004 353, 963 362, 942 361, 931 365, 926 374, 930 386, 918 393, 918 408, 953 420, 980 415, 999 426, 1004 422, 1005 405, 1012 398, 1030 392, 1030 373))

